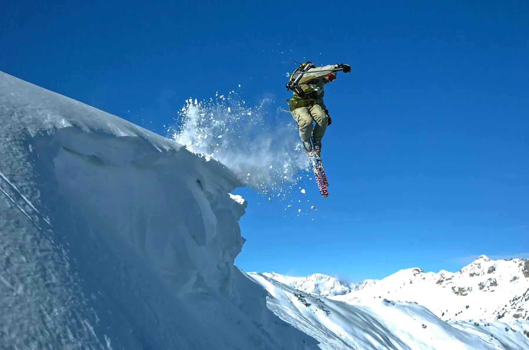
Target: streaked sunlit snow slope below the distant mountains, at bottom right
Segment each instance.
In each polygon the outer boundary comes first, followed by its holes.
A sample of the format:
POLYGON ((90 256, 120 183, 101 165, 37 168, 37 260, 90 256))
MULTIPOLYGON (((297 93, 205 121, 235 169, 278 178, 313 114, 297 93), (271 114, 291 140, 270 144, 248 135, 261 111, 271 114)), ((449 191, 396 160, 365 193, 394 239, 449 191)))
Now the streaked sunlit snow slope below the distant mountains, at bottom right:
POLYGON ((270 293, 268 307, 318 339, 323 350, 529 348, 527 322, 445 322, 414 302, 370 298, 345 303, 296 290, 265 274, 248 275, 270 293))

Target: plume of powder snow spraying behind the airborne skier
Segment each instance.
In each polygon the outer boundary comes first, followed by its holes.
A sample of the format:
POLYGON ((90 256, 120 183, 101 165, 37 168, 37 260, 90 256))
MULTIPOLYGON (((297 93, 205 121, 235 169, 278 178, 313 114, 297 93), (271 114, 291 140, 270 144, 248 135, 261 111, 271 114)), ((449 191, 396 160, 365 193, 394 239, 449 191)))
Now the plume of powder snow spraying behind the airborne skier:
POLYGON ((290 192, 308 159, 292 117, 271 99, 249 107, 233 91, 209 101, 189 98, 179 112, 181 124, 169 137, 187 149, 217 159, 261 194, 290 192))

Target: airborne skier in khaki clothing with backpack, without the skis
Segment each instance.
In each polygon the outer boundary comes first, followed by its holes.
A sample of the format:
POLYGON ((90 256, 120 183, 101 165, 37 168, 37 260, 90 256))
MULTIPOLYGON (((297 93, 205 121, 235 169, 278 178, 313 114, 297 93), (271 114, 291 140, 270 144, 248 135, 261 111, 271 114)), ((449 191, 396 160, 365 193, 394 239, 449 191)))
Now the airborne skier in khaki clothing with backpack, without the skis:
POLYGON ((288 90, 293 90, 292 97, 288 100, 290 113, 294 117, 303 148, 308 154, 320 154, 322 138, 328 125, 331 125, 329 111, 323 103, 323 87, 329 81, 336 79, 336 73, 351 71, 351 66, 329 65, 316 67, 312 62, 302 63, 291 75, 287 84, 288 90), (313 121, 316 123, 313 126, 313 121), (312 143, 311 143, 312 138, 312 143))

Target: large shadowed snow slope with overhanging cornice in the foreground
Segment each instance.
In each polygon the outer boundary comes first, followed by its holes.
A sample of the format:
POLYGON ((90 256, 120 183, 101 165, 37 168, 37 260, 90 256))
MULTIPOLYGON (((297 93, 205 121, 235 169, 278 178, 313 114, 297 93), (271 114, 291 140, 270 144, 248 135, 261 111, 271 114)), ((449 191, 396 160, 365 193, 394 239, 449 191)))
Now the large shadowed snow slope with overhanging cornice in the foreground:
POLYGON ((0 348, 314 349, 235 268, 222 164, 0 72, 0 348))

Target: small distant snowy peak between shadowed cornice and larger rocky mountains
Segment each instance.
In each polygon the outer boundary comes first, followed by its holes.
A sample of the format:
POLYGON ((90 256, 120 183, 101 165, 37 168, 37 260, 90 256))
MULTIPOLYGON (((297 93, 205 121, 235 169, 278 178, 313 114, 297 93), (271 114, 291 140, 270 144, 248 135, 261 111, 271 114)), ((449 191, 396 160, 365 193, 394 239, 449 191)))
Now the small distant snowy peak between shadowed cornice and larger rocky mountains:
POLYGON ((321 273, 314 273, 307 277, 291 277, 276 272, 265 272, 263 275, 298 290, 324 297, 346 294, 356 287, 354 283, 345 283, 321 273))

